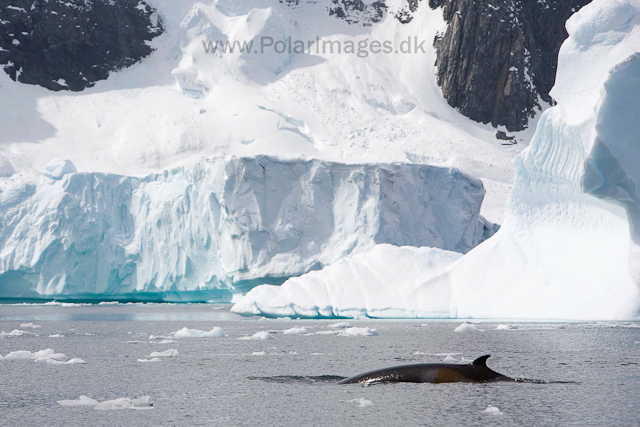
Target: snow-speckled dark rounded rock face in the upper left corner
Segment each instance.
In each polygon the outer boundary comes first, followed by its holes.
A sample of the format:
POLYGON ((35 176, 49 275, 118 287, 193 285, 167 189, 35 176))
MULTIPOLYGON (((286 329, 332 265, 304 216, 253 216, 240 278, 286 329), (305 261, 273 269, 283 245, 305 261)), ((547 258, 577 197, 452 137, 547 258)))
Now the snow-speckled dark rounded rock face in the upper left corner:
POLYGON ((21 83, 81 91, 148 56, 162 31, 140 0, 0 0, 0 64, 21 83))

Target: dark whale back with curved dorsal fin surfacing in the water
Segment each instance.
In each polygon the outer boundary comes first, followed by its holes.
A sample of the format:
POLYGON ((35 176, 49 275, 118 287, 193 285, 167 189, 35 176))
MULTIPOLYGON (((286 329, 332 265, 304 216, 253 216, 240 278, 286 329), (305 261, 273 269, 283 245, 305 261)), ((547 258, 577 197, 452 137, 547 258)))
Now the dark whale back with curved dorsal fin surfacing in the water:
POLYGON ((487 367, 490 355, 480 356, 472 363, 419 363, 416 365, 394 366, 378 369, 355 377, 346 378, 338 384, 357 384, 372 382, 405 383, 454 383, 454 382, 490 382, 515 381, 487 367))

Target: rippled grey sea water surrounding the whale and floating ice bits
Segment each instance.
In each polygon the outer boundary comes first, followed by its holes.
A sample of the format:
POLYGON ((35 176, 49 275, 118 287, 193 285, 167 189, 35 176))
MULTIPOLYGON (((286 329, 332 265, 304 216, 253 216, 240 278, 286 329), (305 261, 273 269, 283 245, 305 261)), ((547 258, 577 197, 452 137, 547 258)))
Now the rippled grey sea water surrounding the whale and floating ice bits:
POLYGON ((379 335, 283 335, 294 326, 317 332, 336 322, 242 319, 210 305, 0 306, 0 331, 39 335, 0 339, 0 355, 52 348, 87 362, 0 360, 0 425, 640 425, 640 324, 515 323, 520 329, 505 331, 483 322, 483 332, 461 334, 453 332, 460 322, 348 322, 379 335), (25 322, 42 328, 20 327, 25 322), (219 326, 227 337, 149 342, 150 334, 185 326, 219 326), (237 339, 263 330, 274 339, 237 339), (137 362, 170 348, 179 355, 137 362), (438 362, 444 356, 432 354, 439 353, 492 354, 488 365, 498 372, 552 383, 335 384, 385 366, 438 362), (150 395, 154 409, 57 403, 81 394, 150 395), (360 398, 371 405, 360 407, 360 398), (489 405, 501 414, 482 412, 489 405))

